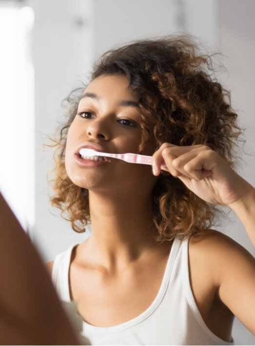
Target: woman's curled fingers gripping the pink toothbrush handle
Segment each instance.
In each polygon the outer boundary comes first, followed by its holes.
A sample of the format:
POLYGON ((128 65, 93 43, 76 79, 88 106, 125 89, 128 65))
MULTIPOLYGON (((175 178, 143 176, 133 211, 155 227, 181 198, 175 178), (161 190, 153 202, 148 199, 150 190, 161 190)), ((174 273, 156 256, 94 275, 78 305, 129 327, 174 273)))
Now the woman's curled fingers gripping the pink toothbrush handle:
POLYGON ((212 174, 214 154, 211 148, 203 145, 180 147, 164 143, 153 155, 153 173, 158 175, 160 170, 164 170, 179 178, 185 176, 199 180, 212 174))

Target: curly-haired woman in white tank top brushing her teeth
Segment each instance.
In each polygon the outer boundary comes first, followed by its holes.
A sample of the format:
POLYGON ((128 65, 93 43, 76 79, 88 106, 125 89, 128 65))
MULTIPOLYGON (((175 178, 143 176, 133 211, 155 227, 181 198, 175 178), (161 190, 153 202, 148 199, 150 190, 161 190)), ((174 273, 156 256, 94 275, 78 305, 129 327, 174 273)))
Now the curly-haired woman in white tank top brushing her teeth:
POLYGON ((47 267, 92 345, 229 345, 234 316, 255 333, 255 260, 211 229, 227 206, 255 245, 255 189, 231 168, 240 130, 213 72, 191 38, 137 41, 69 99, 52 203, 93 231, 47 267), (81 148, 153 155, 153 170, 81 148))

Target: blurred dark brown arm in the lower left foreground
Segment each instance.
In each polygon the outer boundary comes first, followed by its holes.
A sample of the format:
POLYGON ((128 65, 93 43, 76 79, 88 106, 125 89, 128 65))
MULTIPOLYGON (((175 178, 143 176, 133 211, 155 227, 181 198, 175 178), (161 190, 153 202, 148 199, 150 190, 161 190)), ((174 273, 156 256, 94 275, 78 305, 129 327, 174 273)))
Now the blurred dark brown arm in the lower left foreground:
POLYGON ((0 345, 79 345, 37 250, 0 194, 0 345))

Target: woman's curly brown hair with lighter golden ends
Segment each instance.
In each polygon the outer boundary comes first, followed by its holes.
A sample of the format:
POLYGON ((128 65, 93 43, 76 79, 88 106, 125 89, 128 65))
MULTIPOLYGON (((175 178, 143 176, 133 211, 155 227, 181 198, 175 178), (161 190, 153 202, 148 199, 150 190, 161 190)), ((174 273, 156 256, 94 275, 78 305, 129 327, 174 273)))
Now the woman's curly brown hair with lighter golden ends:
MULTIPOLYGON (((104 75, 128 78, 129 90, 139 99, 140 150, 153 135, 155 150, 164 142, 207 145, 233 166, 241 129, 230 92, 215 77, 212 58, 201 54, 196 40, 187 35, 138 40, 103 54, 94 65, 91 80, 104 75)), ((83 91, 84 87, 66 99, 68 118, 55 144, 55 195, 51 197, 52 205, 61 209, 62 216, 68 215, 66 219, 78 232, 85 231, 90 220, 88 190, 67 176, 64 154, 68 128, 83 91)), ((207 230, 217 211, 167 172, 161 172, 153 189, 152 206, 157 242, 171 242, 177 235, 185 239, 207 230)))

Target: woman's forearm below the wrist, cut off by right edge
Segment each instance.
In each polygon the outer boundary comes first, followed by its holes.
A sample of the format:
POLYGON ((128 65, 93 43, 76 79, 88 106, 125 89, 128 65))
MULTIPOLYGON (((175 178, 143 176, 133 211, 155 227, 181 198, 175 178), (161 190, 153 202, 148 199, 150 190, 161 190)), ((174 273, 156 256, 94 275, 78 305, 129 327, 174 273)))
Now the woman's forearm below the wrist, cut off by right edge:
POLYGON ((246 182, 243 197, 229 207, 235 211, 255 246, 255 188, 246 182))

